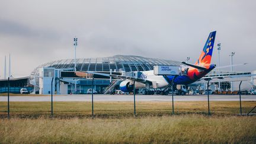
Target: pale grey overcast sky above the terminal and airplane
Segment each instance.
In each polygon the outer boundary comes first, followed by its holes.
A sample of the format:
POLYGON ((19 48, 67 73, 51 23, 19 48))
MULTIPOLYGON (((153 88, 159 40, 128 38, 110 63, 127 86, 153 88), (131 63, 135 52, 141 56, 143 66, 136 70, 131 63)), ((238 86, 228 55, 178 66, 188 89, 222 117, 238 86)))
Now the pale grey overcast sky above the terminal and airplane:
MULTIPOLYGON (((235 71, 256 70, 256 1, 12 1, 0 0, 0 76, 11 53, 12 75, 77 57, 138 55, 196 62, 216 30, 221 65, 235 52, 235 71)), ((228 70, 228 69, 223 69, 228 70)), ((8 73, 8 72, 7 72, 8 73)))

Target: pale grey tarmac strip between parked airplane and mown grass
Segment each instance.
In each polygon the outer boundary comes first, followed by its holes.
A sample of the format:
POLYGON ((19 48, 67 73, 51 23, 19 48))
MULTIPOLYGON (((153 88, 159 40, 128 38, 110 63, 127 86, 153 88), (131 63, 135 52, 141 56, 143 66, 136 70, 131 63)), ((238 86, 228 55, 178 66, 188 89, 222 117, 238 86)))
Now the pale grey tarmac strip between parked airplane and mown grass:
MULTIPOLYGON (((210 101, 239 101, 239 95, 210 95, 210 101)), ((242 101, 255 101, 256 95, 241 95, 242 101)), ((7 96, 0 95, 0 101, 7 101, 7 96)), ((9 101, 51 101, 50 95, 10 96, 9 101)), ((91 94, 54 95, 53 101, 91 101, 91 94)), ((133 101, 133 95, 94 94, 94 101, 133 101)), ((172 101, 172 95, 136 95, 136 101, 172 101)), ((174 95, 174 101, 207 101, 207 95, 174 95)))

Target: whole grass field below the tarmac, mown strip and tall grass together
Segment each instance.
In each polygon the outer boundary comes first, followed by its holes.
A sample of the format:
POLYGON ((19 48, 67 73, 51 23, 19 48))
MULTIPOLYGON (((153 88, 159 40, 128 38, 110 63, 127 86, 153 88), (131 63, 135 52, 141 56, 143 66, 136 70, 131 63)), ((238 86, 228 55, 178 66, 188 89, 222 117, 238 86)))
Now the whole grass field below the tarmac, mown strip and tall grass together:
MULTIPOLYGON (((94 103, 55 102, 54 118, 49 102, 11 102, 11 119, 0 119, 0 143, 255 143, 256 117, 236 116, 238 102, 94 103)), ((248 112, 255 101, 242 102, 248 112)), ((7 103, 0 103, 6 118, 7 103)), ((253 113, 256 113, 253 111, 253 113)))

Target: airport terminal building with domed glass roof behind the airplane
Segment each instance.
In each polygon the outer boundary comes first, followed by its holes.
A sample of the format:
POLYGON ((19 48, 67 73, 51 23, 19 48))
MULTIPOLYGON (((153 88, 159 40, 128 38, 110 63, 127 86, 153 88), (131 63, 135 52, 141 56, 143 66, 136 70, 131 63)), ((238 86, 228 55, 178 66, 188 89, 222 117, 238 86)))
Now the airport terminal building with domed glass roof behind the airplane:
MULTIPOLYGON (((80 78, 75 75, 75 60, 62 59, 44 63, 31 72, 30 84, 34 85, 34 92, 39 94, 50 94, 52 89, 56 94, 87 94, 92 88, 92 77, 80 78)), ((174 60, 148 58, 142 56, 116 55, 111 57, 95 57, 76 60, 76 71, 94 71, 103 73, 113 73, 125 75, 127 72, 153 70, 155 65, 180 66, 181 62, 174 60)), ((251 72, 220 72, 220 75, 248 75, 251 72)), ((208 75, 216 76, 217 71, 212 71, 208 75)), ((237 79, 239 81, 240 79, 237 79)), ((241 79, 244 80, 244 79, 241 79)), ((94 79, 94 89, 97 93, 107 94, 110 88, 119 89, 120 79, 98 76, 94 79)), ((215 80, 215 82, 217 82, 215 80)), ((191 86, 196 88, 201 86, 205 89, 206 81, 195 82, 191 86)), ((239 82, 233 82, 233 90, 238 89, 239 82)), ((248 82, 242 84, 242 88, 250 85, 248 82)), ((212 84, 211 89, 216 89, 216 84, 212 84)))

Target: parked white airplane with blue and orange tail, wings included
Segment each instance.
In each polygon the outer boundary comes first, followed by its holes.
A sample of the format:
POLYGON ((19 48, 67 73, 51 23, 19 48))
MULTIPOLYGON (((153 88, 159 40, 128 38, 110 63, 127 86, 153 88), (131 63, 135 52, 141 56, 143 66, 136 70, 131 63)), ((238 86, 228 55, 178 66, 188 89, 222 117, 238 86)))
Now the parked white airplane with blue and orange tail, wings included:
POLYGON ((154 75, 153 70, 137 72, 137 77, 135 76, 124 76, 124 75, 113 75, 108 73, 100 72, 76 72, 79 77, 85 77, 87 74, 108 76, 117 79, 123 79, 120 83, 120 90, 123 92, 132 92, 134 87, 138 88, 165 88, 173 82, 175 85, 188 85, 193 82, 200 81, 201 79, 209 80, 212 78, 223 79, 225 77, 231 76, 214 76, 214 77, 204 77, 212 71, 216 65, 211 64, 213 46, 215 43, 216 31, 212 31, 207 37, 206 43, 204 44, 203 51, 197 59, 196 63, 191 64, 187 62, 182 62, 184 65, 189 66, 183 71, 183 75, 173 76, 173 75, 154 75))

